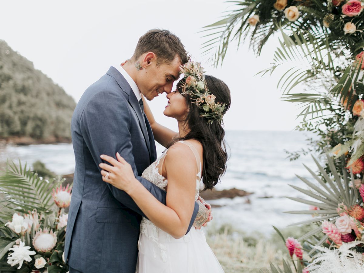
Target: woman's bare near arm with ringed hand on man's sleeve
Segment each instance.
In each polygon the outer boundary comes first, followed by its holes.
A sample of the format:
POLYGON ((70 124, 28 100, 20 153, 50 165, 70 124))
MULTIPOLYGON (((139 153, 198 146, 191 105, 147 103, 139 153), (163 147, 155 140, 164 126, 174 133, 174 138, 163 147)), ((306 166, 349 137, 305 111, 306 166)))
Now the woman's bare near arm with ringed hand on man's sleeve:
MULTIPOLYGON (((185 235, 194 209, 196 189, 196 159, 191 150, 177 143, 167 152, 164 161, 168 174, 166 205, 158 202, 134 176, 130 175, 130 165, 120 155, 117 157, 119 162, 110 159, 110 163, 115 167, 104 163, 100 165, 102 169, 110 171, 107 179, 107 172, 102 171, 103 180, 126 191, 150 221, 160 229, 174 238, 185 235)), ((102 158, 109 160, 105 155, 102 158)), ((208 215, 206 219, 207 217, 208 215)))

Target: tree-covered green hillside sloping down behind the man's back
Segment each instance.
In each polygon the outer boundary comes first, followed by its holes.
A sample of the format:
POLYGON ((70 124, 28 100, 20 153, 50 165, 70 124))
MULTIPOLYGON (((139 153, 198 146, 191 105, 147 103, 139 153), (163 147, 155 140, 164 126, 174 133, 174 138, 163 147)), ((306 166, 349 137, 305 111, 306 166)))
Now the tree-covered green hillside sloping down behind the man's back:
POLYGON ((63 88, 0 40, 0 138, 70 139, 75 106, 63 88))

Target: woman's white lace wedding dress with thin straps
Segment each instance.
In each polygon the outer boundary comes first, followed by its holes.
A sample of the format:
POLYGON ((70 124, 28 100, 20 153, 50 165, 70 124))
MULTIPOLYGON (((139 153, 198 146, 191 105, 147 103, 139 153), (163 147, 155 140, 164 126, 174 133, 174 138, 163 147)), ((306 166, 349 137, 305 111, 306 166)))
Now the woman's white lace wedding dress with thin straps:
MULTIPOLYGON (((180 141, 189 146, 196 157, 196 193, 197 200, 201 179, 201 162, 197 150, 188 142, 180 141)), ((159 165, 163 164, 165 151, 142 174, 161 189, 165 189, 168 181, 159 174, 159 165)), ((191 228, 180 239, 175 239, 168 233, 159 229, 146 218, 141 222, 141 233, 138 241, 137 273, 223 273, 223 269, 211 248, 206 242, 202 230, 191 228)))

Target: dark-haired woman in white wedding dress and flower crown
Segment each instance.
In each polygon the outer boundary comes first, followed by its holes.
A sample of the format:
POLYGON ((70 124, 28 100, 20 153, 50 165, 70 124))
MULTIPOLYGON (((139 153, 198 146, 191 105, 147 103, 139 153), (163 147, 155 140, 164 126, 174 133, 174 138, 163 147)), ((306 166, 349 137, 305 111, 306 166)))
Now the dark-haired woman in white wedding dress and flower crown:
POLYGON ((135 179, 131 166, 117 154, 116 161, 101 158, 103 180, 126 191, 149 218, 143 218, 138 242, 137 272, 223 272, 201 230, 187 231, 200 180, 212 189, 225 172, 227 154, 222 128, 230 107, 224 82, 204 75, 199 63, 180 67, 184 78, 167 95, 164 114, 177 119, 178 134, 155 122, 147 104, 145 113, 155 139, 167 149, 142 174, 167 191, 163 205, 135 179))

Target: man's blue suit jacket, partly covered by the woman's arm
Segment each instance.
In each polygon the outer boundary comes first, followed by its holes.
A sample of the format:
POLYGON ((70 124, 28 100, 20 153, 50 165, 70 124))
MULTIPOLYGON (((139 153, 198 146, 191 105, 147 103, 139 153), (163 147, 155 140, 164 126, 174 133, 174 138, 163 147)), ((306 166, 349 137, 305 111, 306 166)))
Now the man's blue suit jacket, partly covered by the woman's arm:
MULTIPOLYGON (((135 273, 139 225, 145 215, 124 191, 102 181, 100 155, 115 158, 119 152, 135 177, 164 204, 166 192, 141 177, 156 159, 153 132, 116 68, 110 67, 84 92, 72 116, 71 132, 76 166, 65 260, 84 273, 135 273)), ((196 203, 188 231, 197 211, 196 203)))

